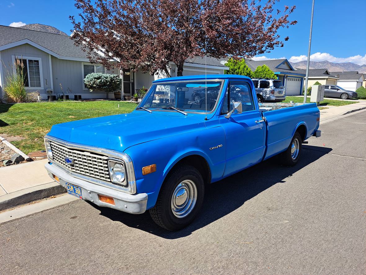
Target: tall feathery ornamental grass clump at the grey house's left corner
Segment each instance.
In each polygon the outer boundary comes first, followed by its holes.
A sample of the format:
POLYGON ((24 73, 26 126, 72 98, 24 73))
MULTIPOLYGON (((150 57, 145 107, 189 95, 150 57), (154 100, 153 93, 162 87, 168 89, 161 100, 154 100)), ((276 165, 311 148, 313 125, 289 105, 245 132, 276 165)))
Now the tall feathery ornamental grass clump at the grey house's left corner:
MULTIPOLYGON (((1 66, 1 64, 0 64, 1 66)), ((8 102, 24 102, 27 98, 27 92, 24 88, 25 75, 23 74, 24 64, 17 59, 14 63, 16 73, 12 72, 12 67, 7 70, 5 78, 4 92, 8 102)))

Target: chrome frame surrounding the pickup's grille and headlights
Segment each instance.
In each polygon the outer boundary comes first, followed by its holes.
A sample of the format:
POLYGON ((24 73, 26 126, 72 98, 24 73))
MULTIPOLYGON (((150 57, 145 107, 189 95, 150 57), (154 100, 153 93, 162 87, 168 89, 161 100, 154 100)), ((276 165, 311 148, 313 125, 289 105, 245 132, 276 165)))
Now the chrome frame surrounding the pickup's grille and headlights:
POLYGON ((119 186, 118 184, 115 184, 112 181, 109 182, 109 181, 104 181, 104 180, 98 180, 98 179, 95 179, 93 177, 89 177, 89 176, 86 176, 86 175, 82 175, 82 174, 72 172, 72 171, 58 165, 56 162, 53 162, 52 159, 48 159, 50 162, 52 162, 53 165, 57 166, 57 168, 60 168, 64 172, 66 172, 69 175, 71 175, 73 177, 76 177, 78 179, 86 180, 86 181, 89 181, 91 183, 95 183, 95 184, 98 184, 98 185, 101 185, 101 186, 112 188, 114 190, 123 191, 127 194, 135 194, 136 193, 136 179, 135 179, 134 166, 132 164, 132 159, 126 153, 122 153, 122 152, 118 152, 118 151, 114 151, 114 150, 109 150, 109 149, 104 149, 104 148, 100 148, 100 147, 95 147, 95 146, 87 146, 87 145, 83 145, 83 144, 79 144, 79 143, 66 142, 65 140, 57 139, 56 137, 52 137, 52 136, 49 136, 49 135, 46 135, 44 137, 44 139, 45 139, 45 141, 48 140, 50 142, 54 142, 56 144, 59 144, 61 146, 66 147, 66 148, 76 149, 76 150, 83 150, 83 151, 87 151, 87 152, 91 152, 91 153, 98 153, 98 154, 101 154, 101 155, 105 155, 105 156, 109 157, 110 159, 123 161, 124 164, 126 164, 125 169, 126 169, 126 172, 127 172, 127 181, 128 181, 128 186, 127 187, 119 186))

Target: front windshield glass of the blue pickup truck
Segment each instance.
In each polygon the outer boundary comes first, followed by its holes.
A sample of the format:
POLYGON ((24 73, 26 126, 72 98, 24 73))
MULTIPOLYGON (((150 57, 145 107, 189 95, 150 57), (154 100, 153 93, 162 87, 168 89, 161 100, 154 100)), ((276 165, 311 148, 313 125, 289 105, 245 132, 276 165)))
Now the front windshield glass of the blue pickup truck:
POLYGON ((169 109, 175 107, 182 111, 202 112, 214 109, 223 81, 179 81, 153 84, 140 107, 146 109, 169 109))

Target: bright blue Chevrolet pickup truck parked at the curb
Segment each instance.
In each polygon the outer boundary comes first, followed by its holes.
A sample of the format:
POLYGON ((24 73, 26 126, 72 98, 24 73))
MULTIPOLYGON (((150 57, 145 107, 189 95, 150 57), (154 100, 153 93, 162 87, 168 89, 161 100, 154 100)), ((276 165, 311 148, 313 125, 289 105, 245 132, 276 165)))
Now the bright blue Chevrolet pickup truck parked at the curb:
POLYGON ((264 110, 248 77, 156 80, 129 114, 52 126, 45 168, 71 195, 128 213, 149 209, 158 225, 179 230, 199 212, 205 184, 277 154, 293 166, 303 141, 320 136, 315 103, 264 110), (202 88, 216 98, 192 99, 202 88))

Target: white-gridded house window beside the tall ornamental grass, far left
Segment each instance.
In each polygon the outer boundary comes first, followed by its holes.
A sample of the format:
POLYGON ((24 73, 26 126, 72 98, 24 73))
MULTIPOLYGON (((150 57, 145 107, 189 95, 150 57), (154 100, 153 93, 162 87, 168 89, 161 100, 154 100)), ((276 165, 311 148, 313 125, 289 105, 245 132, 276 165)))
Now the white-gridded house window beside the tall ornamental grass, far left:
POLYGON ((37 59, 16 59, 18 72, 23 67, 24 87, 41 88, 41 66, 37 59))

